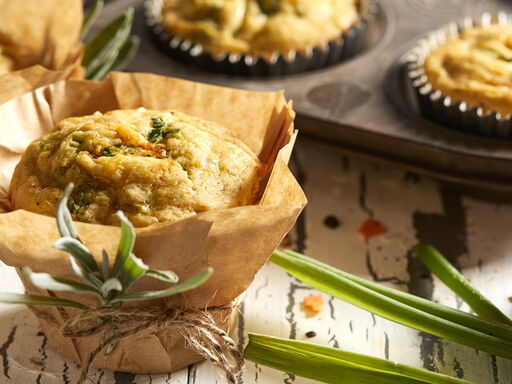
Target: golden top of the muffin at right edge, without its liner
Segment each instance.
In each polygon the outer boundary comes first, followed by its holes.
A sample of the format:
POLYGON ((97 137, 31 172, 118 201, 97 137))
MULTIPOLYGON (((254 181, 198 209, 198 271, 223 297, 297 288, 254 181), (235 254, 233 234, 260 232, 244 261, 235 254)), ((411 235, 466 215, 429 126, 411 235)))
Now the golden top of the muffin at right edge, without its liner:
POLYGON ((424 67, 434 89, 454 101, 512 112, 512 25, 466 30, 433 50, 424 67))

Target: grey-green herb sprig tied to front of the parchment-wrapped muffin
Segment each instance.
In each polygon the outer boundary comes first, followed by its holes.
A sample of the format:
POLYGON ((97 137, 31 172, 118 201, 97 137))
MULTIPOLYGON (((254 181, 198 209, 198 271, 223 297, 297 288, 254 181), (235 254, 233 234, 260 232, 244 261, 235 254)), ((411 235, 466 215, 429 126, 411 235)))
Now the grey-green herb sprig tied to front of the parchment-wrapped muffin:
MULTIPOLYGON (((116 214, 121 221, 121 237, 114 264, 110 268, 110 257, 105 250, 102 253, 101 263, 97 263, 89 249, 81 242, 73 226, 67 204, 72 190, 73 184, 69 184, 57 207, 57 227, 62 237, 55 242, 54 248, 70 254, 71 269, 81 281, 51 276, 48 273, 36 273, 28 267, 23 268, 23 273, 34 286, 49 291, 93 294, 98 296, 102 307, 108 307, 120 305, 124 301, 150 300, 185 292, 203 284, 213 273, 211 268, 207 268, 184 283, 168 289, 129 293, 133 284, 143 277, 176 284, 178 276, 172 271, 149 269, 133 254, 135 230, 121 211, 116 214)), ((26 305, 87 308, 84 304, 73 300, 38 295, 0 293, 0 301, 26 305)))

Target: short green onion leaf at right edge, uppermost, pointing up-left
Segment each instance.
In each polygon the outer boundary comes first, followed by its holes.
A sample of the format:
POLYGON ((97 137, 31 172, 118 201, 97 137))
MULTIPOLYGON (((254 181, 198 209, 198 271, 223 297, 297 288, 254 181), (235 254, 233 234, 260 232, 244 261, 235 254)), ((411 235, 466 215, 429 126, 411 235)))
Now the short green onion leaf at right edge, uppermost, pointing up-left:
POLYGON ((413 252, 439 280, 464 300, 476 314, 484 319, 512 325, 512 320, 471 286, 464 276, 433 246, 420 243, 414 246, 413 252))

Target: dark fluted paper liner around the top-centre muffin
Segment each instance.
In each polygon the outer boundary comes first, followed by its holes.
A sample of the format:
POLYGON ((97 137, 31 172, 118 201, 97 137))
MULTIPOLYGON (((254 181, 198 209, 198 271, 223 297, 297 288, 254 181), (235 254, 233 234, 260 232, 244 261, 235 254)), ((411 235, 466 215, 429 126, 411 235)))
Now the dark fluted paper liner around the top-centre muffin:
POLYGON ((162 22, 163 0, 144 3, 146 27, 156 44, 169 56, 212 72, 234 76, 283 76, 313 71, 338 64, 364 48, 369 25, 378 12, 376 0, 363 0, 359 20, 336 40, 322 47, 309 47, 305 53, 291 50, 286 54, 275 53, 268 60, 256 55, 226 53, 215 56, 200 44, 171 35, 162 22))

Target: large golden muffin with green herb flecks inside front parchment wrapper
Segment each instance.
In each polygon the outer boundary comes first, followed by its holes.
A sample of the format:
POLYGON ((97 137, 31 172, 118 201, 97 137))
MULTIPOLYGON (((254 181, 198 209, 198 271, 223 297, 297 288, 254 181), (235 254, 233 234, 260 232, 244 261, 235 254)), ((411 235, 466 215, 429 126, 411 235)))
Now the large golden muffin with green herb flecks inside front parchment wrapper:
POLYGON ((15 209, 54 215, 65 186, 76 220, 135 226, 255 201, 262 165, 212 122, 178 111, 115 110, 71 117, 34 141, 11 182, 15 209))

